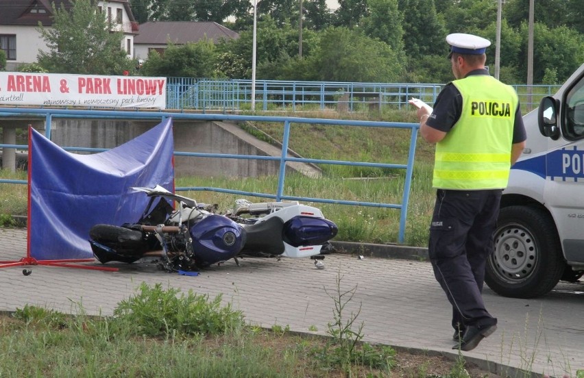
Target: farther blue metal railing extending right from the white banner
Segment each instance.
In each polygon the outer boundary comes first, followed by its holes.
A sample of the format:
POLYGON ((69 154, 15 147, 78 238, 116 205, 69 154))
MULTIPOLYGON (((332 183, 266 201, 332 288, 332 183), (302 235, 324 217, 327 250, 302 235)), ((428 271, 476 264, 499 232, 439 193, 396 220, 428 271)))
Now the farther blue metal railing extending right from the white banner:
MULTIPOLYGON (((259 80, 255 83, 256 110, 339 110, 349 112, 409 106, 410 97, 434 103, 443 84, 358 83, 337 81, 259 80)), ((513 85, 520 102, 537 108, 539 99, 553 95, 559 85, 513 85)), ((195 79, 169 77, 167 108, 179 110, 249 110, 252 81, 247 79, 195 79)))

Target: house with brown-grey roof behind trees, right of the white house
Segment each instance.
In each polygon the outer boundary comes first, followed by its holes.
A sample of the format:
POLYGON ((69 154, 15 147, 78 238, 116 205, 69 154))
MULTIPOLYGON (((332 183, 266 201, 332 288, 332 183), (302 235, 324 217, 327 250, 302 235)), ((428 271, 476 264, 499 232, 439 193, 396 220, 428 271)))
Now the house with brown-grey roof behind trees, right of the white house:
POLYGON ((140 34, 134 38, 135 56, 146 59, 152 50, 163 53, 169 41, 175 45, 186 45, 204 38, 219 42, 223 38, 239 38, 239 34, 210 21, 150 21, 140 24, 140 34))

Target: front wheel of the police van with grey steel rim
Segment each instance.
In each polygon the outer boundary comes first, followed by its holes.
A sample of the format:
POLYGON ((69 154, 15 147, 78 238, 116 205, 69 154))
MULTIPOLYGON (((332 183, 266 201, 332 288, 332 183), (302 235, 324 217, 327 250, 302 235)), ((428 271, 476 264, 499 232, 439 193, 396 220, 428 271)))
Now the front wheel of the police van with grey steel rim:
POLYGON ((542 209, 509 206, 500 210, 495 251, 487 260, 485 283, 504 297, 533 298, 554 288, 565 261, 556 227, 542 209))

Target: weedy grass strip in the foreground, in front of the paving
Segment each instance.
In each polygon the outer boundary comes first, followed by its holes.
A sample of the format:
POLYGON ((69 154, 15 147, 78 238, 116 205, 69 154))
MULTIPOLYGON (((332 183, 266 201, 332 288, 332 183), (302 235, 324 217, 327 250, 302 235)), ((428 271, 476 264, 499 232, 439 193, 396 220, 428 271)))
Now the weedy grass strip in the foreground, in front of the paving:
POLYGON ((351 296, 343 297, 340 280, 330 292, 341 307, 328 338, 261 329, 221 297, 160 283, 141 284, 114 316, 88 316, 79 303, 75 316, 27 305, 0 316, 0 376, 493 377, 461 359, 361 342, 361 328, 352 327, 358 314, 343 312, 351 296))

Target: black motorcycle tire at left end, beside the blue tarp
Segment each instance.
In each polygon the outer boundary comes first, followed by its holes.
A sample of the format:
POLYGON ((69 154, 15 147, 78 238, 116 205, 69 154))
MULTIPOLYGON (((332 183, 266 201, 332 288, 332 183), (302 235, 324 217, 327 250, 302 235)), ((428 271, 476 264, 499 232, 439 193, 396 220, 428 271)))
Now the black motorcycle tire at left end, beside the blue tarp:
POLYGON ((89 231, 89 237, 96 242, 115 249, 118 253, 136 255, 146 249, 146 242, 141 231, 113 225, 95 225, 89 231))

